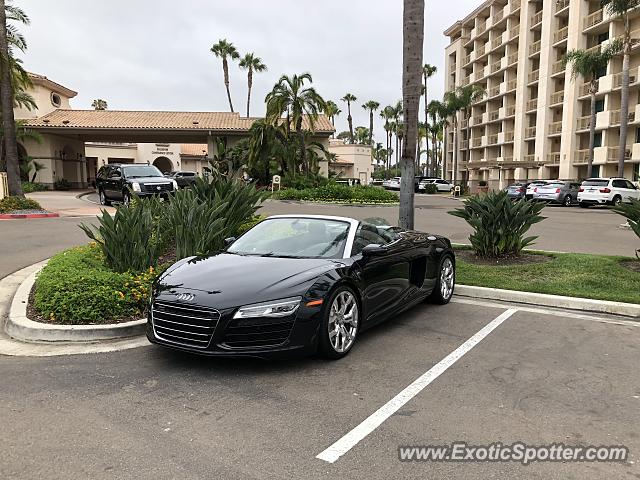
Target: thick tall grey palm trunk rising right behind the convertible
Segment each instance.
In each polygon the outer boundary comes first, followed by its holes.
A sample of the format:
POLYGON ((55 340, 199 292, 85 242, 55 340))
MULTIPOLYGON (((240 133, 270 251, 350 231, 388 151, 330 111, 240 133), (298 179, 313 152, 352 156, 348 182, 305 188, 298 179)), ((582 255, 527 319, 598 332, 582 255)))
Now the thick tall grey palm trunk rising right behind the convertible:
POLYGON ((398 226, 413 229, 416 139, 422 90, 422 50, 424 48, 424 0, 404 0, 402 18, 402 104, 404 145, 398 226))

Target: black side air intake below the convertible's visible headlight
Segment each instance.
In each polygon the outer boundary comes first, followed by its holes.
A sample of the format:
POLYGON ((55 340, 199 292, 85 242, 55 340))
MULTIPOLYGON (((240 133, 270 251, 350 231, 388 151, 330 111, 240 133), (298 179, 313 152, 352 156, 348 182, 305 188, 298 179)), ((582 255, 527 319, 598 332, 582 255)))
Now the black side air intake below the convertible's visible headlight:
POLYGON ((222 343, 231 348, 256 348, 281 345, 293 328, 293 318, 238 318, 232 320, 222 343))

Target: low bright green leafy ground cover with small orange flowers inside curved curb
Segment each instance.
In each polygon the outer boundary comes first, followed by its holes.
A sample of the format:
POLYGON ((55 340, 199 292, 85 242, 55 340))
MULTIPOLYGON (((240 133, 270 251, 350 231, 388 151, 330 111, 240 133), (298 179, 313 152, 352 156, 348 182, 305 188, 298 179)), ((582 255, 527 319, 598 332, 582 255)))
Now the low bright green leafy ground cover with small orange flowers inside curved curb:
POLYGON ((96 244, 53 256, 35 283, 34 308, 56 323, 109 323, 140 317, 157 271, 116 273, 105 265, 96 244))

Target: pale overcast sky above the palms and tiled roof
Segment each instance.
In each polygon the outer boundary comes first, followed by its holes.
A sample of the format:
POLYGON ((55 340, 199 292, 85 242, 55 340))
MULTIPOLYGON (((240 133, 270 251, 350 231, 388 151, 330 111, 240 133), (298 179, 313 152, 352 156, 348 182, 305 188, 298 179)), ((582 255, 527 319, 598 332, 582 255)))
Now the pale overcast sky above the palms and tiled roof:
MULTIPOLYGON (((426 0, 424 63, 439 72, 429 98, 444 93, 442 32, 481 0, 426 0)), ((78 92, 76 109, 95 98, 110 110, 229 111, 222 65, 210 52, 221 38, 241 55, 253 52, 268 71, 255 74, 251 115, 264 114, 264 97, 282 74, 309 72, 323 98, 343 110, 345 93, 354 127, 369 125, 360 107, 402 97, 401 0, 21 0, 31 25, 25 67, 78 92)), ((246 111, 247 77, 230 65, 234 109, 246 111)), ((378 122, 376 115, 375 120, 378 122)), ((375 127, 374 127, 375 130, 375 127)), ((376 137, 384 142, 378 128, 376 137)))

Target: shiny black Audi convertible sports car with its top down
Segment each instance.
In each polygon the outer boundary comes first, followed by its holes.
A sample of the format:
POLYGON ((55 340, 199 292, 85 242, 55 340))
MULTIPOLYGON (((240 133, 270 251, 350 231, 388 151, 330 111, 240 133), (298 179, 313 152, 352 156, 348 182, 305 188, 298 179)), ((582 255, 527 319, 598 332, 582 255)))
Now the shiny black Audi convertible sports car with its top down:
POLYGON ((380 220, 273 216, 221 253, 178 261, 154 285, 147 337, 205 355, 335 359, 403 310, 448 303, 449 240, 380 220))

